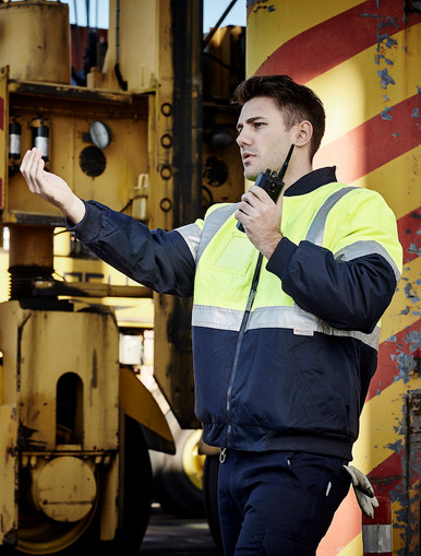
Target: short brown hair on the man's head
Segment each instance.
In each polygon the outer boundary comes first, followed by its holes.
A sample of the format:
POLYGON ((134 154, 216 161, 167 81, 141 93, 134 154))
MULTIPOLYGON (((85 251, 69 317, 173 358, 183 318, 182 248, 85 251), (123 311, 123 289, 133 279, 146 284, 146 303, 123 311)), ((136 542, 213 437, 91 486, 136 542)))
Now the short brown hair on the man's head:
POLYGON ((325 132, 325 110, 318 96, 305 85, 296 83, 289 75, 257 75, 249 78, 233 92, 231 104, 243 106, 255 96, 274 98, 285 110, 287 129, 309 120, 313 126, 310 159, 317 152, 325 132))

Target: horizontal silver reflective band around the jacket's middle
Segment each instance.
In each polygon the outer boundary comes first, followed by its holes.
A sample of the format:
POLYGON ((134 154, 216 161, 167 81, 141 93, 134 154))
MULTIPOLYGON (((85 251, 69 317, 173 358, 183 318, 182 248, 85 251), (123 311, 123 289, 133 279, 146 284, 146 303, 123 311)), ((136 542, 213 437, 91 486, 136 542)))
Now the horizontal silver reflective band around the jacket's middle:
MULTIPOLYGON (((241 310, 195 305, 193 307, 192 323, 194 327, 238 331, 240 330, 242 317, 243 311, 241 310)), ((260 307, 255 309, 250 316, 248 330, 265 328, 293 330, 300 335, 321 332, 333 336, 354 338, 373 350, 377 350, 380 341, 378 327, 371 334, 363 334, 354 330, 339 330, 299 307, 260 307)))

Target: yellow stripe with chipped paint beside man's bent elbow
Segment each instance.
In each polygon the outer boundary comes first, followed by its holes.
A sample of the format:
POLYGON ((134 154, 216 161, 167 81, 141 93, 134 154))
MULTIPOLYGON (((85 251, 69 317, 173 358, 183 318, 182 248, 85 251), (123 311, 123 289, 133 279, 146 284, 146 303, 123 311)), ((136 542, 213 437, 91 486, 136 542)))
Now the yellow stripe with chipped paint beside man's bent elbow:
POLYGON ((404 265, 402 277, 398 284, 397 291, 385 315, 382 317, 381 342, 384 342, 406 327, 410 327, 420 320, 420 303, 417 301, 417 298, 421 298, 420 275, 421 257, 404 265), (408 298, 405 293, 405 287, 408 283, 412 286, 411 294, 413 294, 414 297, 408 298), (412 303, 412 299, 414 303, 412 303), (405 315, 402 311, 406 310, 407 307, 409 312, 405 315))

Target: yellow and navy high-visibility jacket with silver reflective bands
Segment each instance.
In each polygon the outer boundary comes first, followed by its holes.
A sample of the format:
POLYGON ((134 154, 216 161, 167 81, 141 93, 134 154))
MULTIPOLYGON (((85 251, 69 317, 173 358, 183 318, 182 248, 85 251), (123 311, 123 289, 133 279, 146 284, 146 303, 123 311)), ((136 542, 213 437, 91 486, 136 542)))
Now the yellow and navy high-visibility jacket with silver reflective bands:
POLYGON ((204 221, 167 233, 89 201, 73 229, 134 280, 194 294, 205 442, 349 461, 378 321, 401 272, 396 218, 378 193, 338 184, 333 168, 312 171, 286 190, 284 237, 256 284, 258 252, 236 227, 237 206, 213 206, 204 221))

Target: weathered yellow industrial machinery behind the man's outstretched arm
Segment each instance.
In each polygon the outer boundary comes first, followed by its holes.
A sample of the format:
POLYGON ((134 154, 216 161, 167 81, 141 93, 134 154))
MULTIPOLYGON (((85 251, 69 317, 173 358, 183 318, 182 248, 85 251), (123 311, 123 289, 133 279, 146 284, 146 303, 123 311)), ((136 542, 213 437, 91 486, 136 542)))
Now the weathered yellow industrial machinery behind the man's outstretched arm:
MULTIPOLYGON (((139 548, 152 500, 149 450, 173 453, 177 442, 154 395, 119 363, 122 331, 154 326, 155 378, 178 426, 197 428, 190 300, 124 282, 73 238, 58 247, 65 222, 28 192, 19 165, 35 145, 77 196, 149 227, 170 229, 213 202, 237 200, 242 168, 229 97, 242 76, 243 29, 219 29, 204 44, 196 0, 111 0, 109 13, 104 64, 76 86, 68 7, 0 3, 0 224, 10 234, 10 293, 0 304, 0 554, 139 548), (212 76, 204 87, 203 75, 212 76), (120 318, 124 306, 135 308, 135 322, 120 318)), ((195 436, 190 443, 202 462, 195 436)), ((201 469, 194 474, 200 487, 201 469)))

